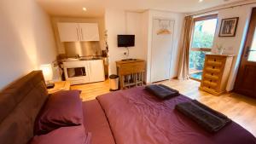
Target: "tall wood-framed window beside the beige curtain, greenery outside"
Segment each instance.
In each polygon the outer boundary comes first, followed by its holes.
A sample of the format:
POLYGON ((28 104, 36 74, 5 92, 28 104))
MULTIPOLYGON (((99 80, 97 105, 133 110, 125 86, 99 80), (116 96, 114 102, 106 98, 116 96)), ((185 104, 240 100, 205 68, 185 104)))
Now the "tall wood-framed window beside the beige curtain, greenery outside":
POLYGON ((205 56, 213 46, 217 26, 217 14, 195 18, 191 48, 189 52, 190 78, 201 80, 205 56))

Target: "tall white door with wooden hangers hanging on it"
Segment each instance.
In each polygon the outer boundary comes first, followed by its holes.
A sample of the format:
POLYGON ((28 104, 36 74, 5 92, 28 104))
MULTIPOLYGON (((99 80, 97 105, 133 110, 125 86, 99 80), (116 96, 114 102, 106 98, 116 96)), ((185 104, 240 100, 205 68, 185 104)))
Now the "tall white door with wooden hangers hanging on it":
POLYGON ((170 79, 173 32, 173 20, 153 20, 151 83, 170 79), (158 32, 166 26, 170 34, 159 34, 158 32))

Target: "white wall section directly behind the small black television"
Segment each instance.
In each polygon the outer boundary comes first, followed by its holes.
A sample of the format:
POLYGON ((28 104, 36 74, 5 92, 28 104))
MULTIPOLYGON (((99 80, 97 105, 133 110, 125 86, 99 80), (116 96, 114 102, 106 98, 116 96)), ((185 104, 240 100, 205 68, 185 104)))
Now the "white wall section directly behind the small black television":
POLYGON ((108 31, 109 72, 116 73, 116 60, 126 59, 127 50, 117 47, 117 35, 134 34, 135 47, 131 47, 129 58, 146 60, 147 49, 143 45, 143 14, 120 9, 106 9, 106 30, 108 31))

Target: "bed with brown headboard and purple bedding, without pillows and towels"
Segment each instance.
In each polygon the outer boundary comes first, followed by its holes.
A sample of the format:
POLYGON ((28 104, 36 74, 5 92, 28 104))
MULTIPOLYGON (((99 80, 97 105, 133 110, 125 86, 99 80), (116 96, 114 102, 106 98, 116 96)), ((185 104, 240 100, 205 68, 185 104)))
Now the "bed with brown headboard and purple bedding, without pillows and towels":
MULTIPOLYGON (((42 72, 31 72, 0 92, 0 143, 26 144, 33 124, 47 101, 42 72)), ((175 111, 191 101, 179 95, 160 101, 143 87, 100 95, 83 102, 84 127, 91 144, 253 144, 255 137, 232 122, 210 134, 175 111)))

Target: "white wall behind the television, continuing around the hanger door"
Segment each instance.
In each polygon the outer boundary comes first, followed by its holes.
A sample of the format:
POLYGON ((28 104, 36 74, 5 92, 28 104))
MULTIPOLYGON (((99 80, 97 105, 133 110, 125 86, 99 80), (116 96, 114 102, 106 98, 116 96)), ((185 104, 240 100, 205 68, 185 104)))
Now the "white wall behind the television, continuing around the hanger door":
POLYGON ((125 59, 126 49, 117 47, 118 34, 135 34, 135 47, 130 49, 130 58, 147 61, 147 83, 150 83, 151 42, 153 18, 175 20, 175 32, 172 50, 171 77, 177 77, 179 59, 179 43, 183 27, 184 14, 166 11, 147 10, 143 13, 127 12, 122 9, 107 9, 105 14, 106 29, 108 30, 108 46, 110 56, 110 73, 116 73, 116 60, 125 59))

